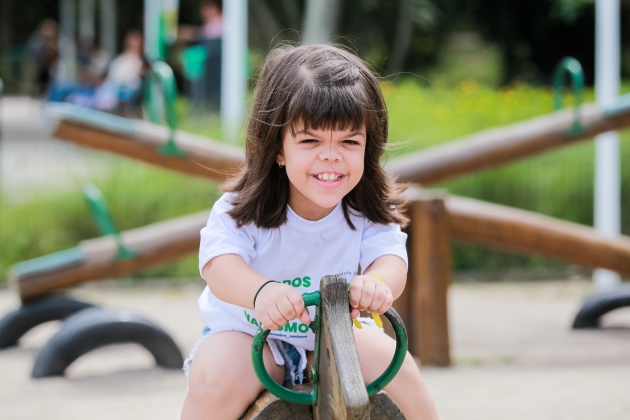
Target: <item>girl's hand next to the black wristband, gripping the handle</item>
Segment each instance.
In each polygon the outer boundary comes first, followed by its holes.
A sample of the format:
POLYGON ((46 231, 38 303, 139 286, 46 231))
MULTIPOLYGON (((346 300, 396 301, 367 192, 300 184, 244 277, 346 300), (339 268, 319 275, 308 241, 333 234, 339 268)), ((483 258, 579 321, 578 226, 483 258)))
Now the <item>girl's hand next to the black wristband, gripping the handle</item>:
POLYGON ((269 283, 263 287, 254 310, 258 321, 270 330, 277 330, 296 318, 304 324, 311 322, 300 292, 283 283, 269 283))

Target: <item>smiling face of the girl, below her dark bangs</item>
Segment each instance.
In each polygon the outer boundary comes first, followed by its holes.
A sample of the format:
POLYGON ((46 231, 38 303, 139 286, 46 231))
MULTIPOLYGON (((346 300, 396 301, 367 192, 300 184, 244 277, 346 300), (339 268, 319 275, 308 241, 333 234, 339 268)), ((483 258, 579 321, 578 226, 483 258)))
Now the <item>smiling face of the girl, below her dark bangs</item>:
POLYGON ((363 176, 365 128, 357 131, 304 130, 283 134, 277 162, 286 166, 289 205, 307 220, 330 213, 363 176))

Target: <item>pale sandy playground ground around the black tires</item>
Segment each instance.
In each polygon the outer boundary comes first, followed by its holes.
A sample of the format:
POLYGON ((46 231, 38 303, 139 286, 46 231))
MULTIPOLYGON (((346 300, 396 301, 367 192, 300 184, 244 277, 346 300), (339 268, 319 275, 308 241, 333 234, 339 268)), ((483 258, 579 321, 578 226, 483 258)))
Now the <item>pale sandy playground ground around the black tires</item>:
MULTIPOLYGON (((202 327, 200 285, 91 286, 76 297, 131 309, 168 331, 184 352, 202 327)), ((443 420, 630 418, 630 309, 605 328, 572 331, 587 281, 456 284, 450 293, 454 366, 423 367, 443 420)), ((0 291, 0 313, 16 308, 0 291)), ((39 326, 0 351, 1 419, 174 419, 186 394, 179 371, 153 367, 135 345, 83 356, 67 377, 29 378, 37 351, 59 328, 39 326)))

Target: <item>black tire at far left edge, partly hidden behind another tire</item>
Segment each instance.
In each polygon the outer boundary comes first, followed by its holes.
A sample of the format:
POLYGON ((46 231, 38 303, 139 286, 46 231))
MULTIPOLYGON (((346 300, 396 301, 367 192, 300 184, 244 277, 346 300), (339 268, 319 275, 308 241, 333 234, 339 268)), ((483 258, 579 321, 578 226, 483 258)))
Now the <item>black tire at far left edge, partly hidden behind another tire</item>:
POLYGON ((63 295, 24 303, 0 320, 0 349, 16 346, 18 340, 31 328, 44 322, 67 318, 93 306, 91 303, 70 299, 63 295))

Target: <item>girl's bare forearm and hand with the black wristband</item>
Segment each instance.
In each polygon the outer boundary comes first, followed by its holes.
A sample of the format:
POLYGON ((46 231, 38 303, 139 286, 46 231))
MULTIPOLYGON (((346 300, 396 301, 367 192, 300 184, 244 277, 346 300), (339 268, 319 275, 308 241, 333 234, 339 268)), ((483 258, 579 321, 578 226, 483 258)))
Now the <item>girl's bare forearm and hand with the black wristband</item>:
POLYGON ((295 318, 305 324, 311 322, 302 295, 283 283, 265 285, 258 293, 254 307, 256 292, 272 279, 254 271, 239 255, 214 257, 205 265, 202 274, 213 295, 224 302, 254 309, 256 318, 271 330, 295 318))

